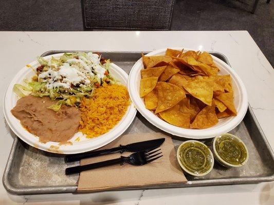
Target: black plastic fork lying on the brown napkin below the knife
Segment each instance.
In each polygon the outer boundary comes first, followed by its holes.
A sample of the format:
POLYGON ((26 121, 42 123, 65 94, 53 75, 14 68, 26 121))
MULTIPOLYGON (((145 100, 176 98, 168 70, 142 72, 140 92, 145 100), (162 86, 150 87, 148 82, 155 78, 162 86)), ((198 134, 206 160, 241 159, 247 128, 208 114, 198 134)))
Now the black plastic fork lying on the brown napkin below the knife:
POLYGON ((163 156, 163 155, 160 155, 161 152, 158 152, 160 151, 160 149, 158 150, 155 150, 155 149, 157 148, 146 150, 143 152, 135 152, 128 157, 121 156, 120 158, 117 158, 117 159, 111 159, 111 160, 101 161, 97 163, 90 163, 89 165, 69 167, 69 168, 66 168, 66 175, 76 174, 82 171, 92 170, 92 169, 111 166, 111 165, 117 165, 117 164, 123 165, 124 163, 129 163, 130 165, 135 165, 135 166, 146 165, 147 163, 150 163, 163 156))

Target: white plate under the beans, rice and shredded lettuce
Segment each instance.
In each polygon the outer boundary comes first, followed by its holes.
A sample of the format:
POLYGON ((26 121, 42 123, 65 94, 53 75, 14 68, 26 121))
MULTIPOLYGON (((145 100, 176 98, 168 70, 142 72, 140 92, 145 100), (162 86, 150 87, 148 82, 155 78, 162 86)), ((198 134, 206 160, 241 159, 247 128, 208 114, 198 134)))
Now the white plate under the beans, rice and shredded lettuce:
MULTIPOLYGON (((63 53, 54 54, 46 56, 45 59, 51 58, 54 56, 56 58, 60 57, 63 53)), ((37 60, 33 61, 29 64, 31 67, 36 68, 39 66, 37 60)), ((111 64, 109 71, 111 75, 120 81, 121 84, 127 85, 128 75, 118 66, 115 64, 111 64)), ((135 115, 136 109, 133 104, 129 106, 125 115, 121 119, 121 121, 109 132, 95 137, 95 138, 86 138, 82 135, 81 132, 75 134, 69 141, 72 142, 72 145, 59 145, 59 142, 47 142, 45 144, 39 142, 39 137, 29 133, 26 129, 22 127, 20 124, 20 120, 16 119, 10 112, 10 110, 16 105, 17 95, 12 91, 14 84, 22 84, 23 79, 30 79, 34 75, 34 71, 31 68, 24 67, 22 68, 16 76, 12 79, 11 83, 9 84, 5 97, 4 97, 4 116, 7 120, 8 125, 10 126, 11 130, 23 141, 27 144, 41 149, 48 152, 56 152, 56 153, 63 153, 63 154, 74 154, 74 153, 81 153, 90 150, 95 150, 100 148, 109 142, 116 139, 120 136, 132 123, 135 115), (76 138, 80 137, 79 141, 76 141, 76 138)))

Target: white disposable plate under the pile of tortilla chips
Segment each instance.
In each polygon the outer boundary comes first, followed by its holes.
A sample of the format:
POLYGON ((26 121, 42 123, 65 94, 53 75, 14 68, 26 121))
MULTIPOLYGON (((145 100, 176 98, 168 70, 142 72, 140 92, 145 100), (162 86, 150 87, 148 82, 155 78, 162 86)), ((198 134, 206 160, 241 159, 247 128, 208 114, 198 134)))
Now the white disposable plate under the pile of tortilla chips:
MULTIPOLYGON (((176 50, 181 50, 182 48, 173 48, 176 50)), ((184 51, 191 50, 191 49, 184 49, 184 51)), ((147 56, 152 55, 165 55, 166 49, 160 49, 153 51, 147 56)), ((228 66, 224 61, 218 59, 215 56, 213 57, 213 61, 218 68, 220 68, 220 72, 218 75, 226 75, 230 74, 232 80, 232 86, 234 91, 234 104, 235 108, 238 112, 237 116, 234 117, 227 117, 223 119, 219 119, 218 124, 211 128, 201 129, 201 130, 194 130, 194 129, 184 129, 173 126, 166 121, 161 120, 157 117, 153 112, 146 109, 144 106, 144 101, 140 98, 139 90, 140 90, 140 79, 141 74, 140 70, 143 69, 142 59, 140 58, 135 65, 133 66, 130 76, 129 76, 129 93, 131 99, 136 106, 137 110, 146 118, 148 119, 154 126, 158 127, 159 129, 171 133, 176 136, 192 138, 192 139, 204 139, 204 138, 211 138, 222 133, 229 132, 240 122, 243 120, 247 107, 248 107, 248 100, 247 100, 247 92, 243 81, 240 77, 236 74, 236 72, 228 66)))

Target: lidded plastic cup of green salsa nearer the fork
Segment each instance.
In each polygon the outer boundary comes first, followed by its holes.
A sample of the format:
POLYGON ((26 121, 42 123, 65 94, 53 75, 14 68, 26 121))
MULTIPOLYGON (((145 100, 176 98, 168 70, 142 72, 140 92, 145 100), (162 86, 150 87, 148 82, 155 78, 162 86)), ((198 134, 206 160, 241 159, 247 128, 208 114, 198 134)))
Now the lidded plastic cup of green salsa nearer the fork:
POLYGON ((179 149, 178 160, 189 172, 203 174, 211 169, 213 159, 209 148, 205 145, 189 141, 179 149))

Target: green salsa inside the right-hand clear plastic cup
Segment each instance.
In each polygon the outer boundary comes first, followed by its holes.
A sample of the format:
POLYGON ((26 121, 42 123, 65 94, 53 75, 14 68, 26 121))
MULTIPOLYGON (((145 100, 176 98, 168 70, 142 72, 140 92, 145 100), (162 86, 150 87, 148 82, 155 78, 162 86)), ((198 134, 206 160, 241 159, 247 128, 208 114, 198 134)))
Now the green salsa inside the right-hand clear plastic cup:
POLYGON ((242 165, 247 158, 247 150, 242 141, 233 135, 218 136, 215 142, 217 154, 231 165, 242 165))

